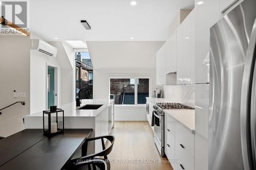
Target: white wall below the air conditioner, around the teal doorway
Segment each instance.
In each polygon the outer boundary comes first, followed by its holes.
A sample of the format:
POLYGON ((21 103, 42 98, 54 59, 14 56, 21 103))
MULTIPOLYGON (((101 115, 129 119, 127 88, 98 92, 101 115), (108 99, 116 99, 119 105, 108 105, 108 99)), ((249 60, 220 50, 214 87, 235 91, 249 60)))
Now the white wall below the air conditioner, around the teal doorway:
MULTIPOLYGON (((32 38, 38 38, 32 35, 32 38)), ((56 57, 50 57, 35 50, 30 52, 30 113, 46 109, 46 63, 58 68, 58 106, 73 102, 73 63, 61 41, 49 42, 57 47, 56 57)), ((71 51, 66 46, 67 51, 71 51)))

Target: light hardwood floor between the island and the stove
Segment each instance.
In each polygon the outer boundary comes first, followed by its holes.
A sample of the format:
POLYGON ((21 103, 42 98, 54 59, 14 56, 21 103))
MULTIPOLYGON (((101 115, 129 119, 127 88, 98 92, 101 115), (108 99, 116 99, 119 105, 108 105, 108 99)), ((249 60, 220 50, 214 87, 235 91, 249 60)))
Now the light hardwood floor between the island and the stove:
POLYGON ((114 147, 109 155, 112 170, 173 170, 167 158, 162 158, 158 153, 154 133, 147 122, 115 122, 111 134, 115 136, 114 147))

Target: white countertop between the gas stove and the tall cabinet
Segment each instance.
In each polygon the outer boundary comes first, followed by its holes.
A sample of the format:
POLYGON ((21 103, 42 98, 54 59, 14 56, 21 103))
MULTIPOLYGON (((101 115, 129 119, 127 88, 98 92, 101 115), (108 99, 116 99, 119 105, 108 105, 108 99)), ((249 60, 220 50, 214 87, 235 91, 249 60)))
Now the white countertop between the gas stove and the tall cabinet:
POLYGON ((195 134, 195 110, 194 109, 164 109, 165 113, 174 117, 183 124, 191 133, 195 134))

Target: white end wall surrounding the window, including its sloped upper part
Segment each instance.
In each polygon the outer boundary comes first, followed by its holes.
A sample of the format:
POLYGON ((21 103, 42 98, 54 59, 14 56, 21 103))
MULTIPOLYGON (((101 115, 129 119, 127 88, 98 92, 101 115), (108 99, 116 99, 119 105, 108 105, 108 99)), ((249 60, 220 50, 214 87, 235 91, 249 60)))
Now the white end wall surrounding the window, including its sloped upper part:
MULTIPOLYGON (((156 53, 163 41, 89 41, 93 98, 109 99, 110 76, 150 76, 156 88, 156 53)), ((146 120, 145 107, 115 107, 115 120, 146 120)))

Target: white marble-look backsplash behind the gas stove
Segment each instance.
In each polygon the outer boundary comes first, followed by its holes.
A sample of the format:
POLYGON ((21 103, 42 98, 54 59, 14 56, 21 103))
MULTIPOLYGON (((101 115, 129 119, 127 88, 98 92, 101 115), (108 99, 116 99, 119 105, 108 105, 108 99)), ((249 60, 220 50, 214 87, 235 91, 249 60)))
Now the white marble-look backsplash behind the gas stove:
POLYGON ((163 86, 164 98, 170 102, 178 102, 195 107, 195 85, 163 86))

